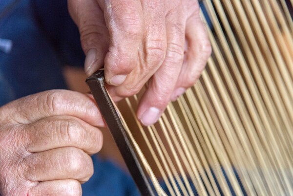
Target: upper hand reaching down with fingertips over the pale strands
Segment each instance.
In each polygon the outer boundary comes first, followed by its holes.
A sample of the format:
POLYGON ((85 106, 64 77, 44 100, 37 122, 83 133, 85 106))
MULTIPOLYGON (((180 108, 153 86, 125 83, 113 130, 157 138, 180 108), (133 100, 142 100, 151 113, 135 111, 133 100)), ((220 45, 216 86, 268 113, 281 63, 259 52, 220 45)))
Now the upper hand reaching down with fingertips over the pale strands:
POLYGON ((197 0, 68 0, 92 74, 105 64, 113 99, 149 80, 138 118, 155 123, 170 100, 194 85, 211 53, 197 0))

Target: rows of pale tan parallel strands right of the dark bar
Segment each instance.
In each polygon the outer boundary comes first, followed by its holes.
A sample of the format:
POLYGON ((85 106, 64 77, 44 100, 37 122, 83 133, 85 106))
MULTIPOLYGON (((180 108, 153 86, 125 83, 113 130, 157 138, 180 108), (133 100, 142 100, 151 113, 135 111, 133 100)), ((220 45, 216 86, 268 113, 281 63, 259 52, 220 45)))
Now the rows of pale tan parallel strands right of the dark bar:
POLYGON ((207 68, 153 126, 125 100, 134 149, 159 196, 292 196, 293 0, 204 4, 207 68))

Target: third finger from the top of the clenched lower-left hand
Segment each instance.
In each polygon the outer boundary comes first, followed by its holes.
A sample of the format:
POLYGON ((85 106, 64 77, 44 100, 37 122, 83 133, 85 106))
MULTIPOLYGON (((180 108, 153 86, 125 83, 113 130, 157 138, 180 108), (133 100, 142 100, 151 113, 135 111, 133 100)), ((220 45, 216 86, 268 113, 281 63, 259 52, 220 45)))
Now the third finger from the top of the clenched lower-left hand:
POLYGON ((91 157, 74 147, 32 153, 24 158, 24 164, 24 177, 30 181, 75 179, 86 182, 94 171, 91 157))

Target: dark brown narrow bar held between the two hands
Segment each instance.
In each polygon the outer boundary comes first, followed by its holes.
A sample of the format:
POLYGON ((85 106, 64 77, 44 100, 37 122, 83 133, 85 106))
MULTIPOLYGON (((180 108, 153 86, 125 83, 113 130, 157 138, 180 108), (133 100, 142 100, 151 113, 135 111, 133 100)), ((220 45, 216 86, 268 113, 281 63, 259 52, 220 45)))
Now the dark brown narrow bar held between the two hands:
POLYGON ((137 153, 132 147, 132 143, 105 88, 104 70, 97 71, 88 77, 86 83, 98 104, 140 193, 142 196, 155 196, 146 172, 141 166, 141 162, 136 155, 137 153))

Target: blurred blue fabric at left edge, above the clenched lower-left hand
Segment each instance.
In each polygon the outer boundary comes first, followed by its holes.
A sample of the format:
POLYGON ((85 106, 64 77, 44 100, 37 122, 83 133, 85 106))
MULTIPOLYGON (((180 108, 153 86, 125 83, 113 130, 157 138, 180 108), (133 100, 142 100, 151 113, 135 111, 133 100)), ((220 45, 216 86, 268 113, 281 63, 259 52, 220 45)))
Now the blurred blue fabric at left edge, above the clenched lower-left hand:
MULTIPOLYGON (((11 2, 1 0, 0 10, 11 2)), ((13 43, 10 53, 0 51, 0 105, 43 90, 65 88, 62 64, 32 13, 30 2, 21 0, 0 19, 0 39, 13 43)))

